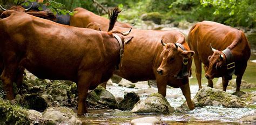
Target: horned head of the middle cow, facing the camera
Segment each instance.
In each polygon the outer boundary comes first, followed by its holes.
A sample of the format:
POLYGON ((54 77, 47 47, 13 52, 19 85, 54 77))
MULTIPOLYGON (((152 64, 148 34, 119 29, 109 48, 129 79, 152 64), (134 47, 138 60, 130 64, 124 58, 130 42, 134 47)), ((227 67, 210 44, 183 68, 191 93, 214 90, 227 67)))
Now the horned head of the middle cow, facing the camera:
POLYGON ((183 59, 191 58, 194 55, 194 51, 184 51, 178 45, 174 43, 163 43, 164 50, 161 52, 161 58, 163 58, 161 65, 157 68, 157 73, 160 75, 177 75, 182 68, 183 59))

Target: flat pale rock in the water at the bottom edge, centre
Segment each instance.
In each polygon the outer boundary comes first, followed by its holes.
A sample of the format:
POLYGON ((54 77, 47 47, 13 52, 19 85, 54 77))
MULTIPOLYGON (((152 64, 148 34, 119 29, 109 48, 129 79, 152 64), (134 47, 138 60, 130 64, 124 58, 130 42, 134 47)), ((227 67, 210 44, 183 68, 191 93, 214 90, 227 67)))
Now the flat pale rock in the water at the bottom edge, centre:
POLYGON ((131 124, 163 124, 163 122, 158 117, 142 117, 133 119, 131 124))

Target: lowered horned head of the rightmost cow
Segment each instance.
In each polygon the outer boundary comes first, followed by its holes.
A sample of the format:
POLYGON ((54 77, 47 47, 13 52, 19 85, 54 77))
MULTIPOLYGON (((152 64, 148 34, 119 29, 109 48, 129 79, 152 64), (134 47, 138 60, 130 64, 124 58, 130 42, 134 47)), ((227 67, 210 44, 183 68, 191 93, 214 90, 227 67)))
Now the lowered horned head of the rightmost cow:
POLYGON ((205 77, 209 80, 221 77, 226 72, 226 56, 222 51, 216 50, 210 44, 213 54, 208 57, 209 66, 206 67, 205 77))

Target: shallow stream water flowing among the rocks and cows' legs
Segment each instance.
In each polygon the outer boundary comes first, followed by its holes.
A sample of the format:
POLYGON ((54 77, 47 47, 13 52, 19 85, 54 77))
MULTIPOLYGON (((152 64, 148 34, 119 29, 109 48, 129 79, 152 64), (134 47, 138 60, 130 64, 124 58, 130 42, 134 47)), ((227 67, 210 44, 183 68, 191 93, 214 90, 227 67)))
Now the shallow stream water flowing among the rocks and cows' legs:
MULTIPOLYGON (((194 66, 192 66, 192 70, 194 66)), ((193 70, 194 71, 194 70, 193 70)), ((246 73, 243 77, 247 82, 256 84, 256 63, 248 61, 246 73)), ((193 74, 195 75, 195 74, 193 74)), ((233 77, 234 79, 234 77, 233 77)), ((216 82, 218 79, 214 79, 216 82)), ((203 87, 207 86, 206 79, 202 79, 203 87)), ((146 99, 147 92, 157 92, 155 86, 151 86, 150 89, 136 89, 120 87, 117 84, 113 86, 107 86, 107 91, 111 92, 116 97, 124 97, 125 93, 138 92, 140 93, 140 99, 146 99)), ((191 98, 198 92, 198 85, 196 77, 190 79, 191 98)), ((246 93, 255 93, 256 88, 242 89, 246 93)), ((227 90, 228 93, 233 93, 234 90, 227 90)), ((180 88, 167 88, 166 99, 170 105, 174 108, 179 107, 185 102, 185 98, 180 88)), ((256 103, 253 104, 254 106, 256 103)), ((80 117, 83 124, 130 124, 132 119, 137 119, 146 116, 159 117, 165 124, 246 124, 241 123, 239 120, 243 116, 256 113, 255 108, 223 108, 221 106, 205 106, 203 108, 196 108, 187 112, 174 112, 169 115, 159 114, 133 114, 130 111, 120 111, 113 109, 89 109, 89 113, 80 117)), ((250 124, 250 123, 247 123, 250 124)))

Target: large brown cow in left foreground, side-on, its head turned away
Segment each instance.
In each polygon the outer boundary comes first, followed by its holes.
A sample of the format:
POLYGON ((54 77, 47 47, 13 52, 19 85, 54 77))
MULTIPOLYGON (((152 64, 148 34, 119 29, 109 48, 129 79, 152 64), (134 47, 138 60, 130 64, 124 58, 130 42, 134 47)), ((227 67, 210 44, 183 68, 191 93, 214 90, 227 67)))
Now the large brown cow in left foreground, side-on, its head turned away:
MULTIPOLYGON (((87 112, 88 89, 107 81, 120 58, 120 47, 131 40, 119 31, 99 32, 51 22, 8 10, 0 20, 1 75, 6 97, 14 99, 12 82, 19 67, 41 79, 71 80, 78 87, 78 115, 87 112)), ((114 25, 114 23, 111 23, 114 25)))

